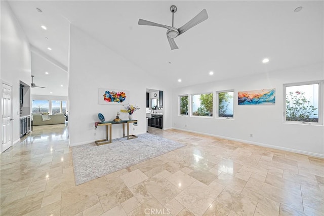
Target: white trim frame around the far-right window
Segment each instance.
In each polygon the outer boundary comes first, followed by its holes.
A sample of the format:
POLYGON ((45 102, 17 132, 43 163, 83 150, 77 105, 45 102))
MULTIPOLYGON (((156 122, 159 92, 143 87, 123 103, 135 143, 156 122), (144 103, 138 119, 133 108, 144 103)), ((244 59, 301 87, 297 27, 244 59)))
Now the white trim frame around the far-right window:
POLYGON ((303 124, 303 125, 323 125, 323 81, 317 80, 317 81, 307 81, 307 82, 299 82, 299 83, 288 83, 284 84, 284 112, 283 114, 283 123, 286 124, 303 124), (318 122, 297 122, 297 121, 286 121, 286 87, 290 86, 302 86, 302 85, 312 85, 312 84, 318 84, 318 122))

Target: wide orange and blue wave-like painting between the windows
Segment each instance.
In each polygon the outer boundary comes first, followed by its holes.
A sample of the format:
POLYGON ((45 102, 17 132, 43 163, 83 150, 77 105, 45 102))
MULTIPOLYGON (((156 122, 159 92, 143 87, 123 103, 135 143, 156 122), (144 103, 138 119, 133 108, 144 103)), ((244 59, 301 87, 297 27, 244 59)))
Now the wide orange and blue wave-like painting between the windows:
POLYGON ((238 105, 256 104, 275 104, 275 89, 238 92, 238 105))

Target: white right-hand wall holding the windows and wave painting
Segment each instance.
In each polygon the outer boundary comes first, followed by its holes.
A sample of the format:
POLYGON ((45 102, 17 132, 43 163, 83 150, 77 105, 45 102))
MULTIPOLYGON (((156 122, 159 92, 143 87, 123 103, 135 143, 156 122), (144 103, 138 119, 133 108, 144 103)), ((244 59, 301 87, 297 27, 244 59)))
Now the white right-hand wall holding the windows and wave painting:
POLYGON ((312 65, 174 89, 173 127, 323 157, 324 127, 322 125, 283 123, 282 86, 286 83, 323 80, 323 76, 323 66, 312 65), (238 91, 267 88, 276 90, 275 105, 237 105, 238 91), (178 95, 210 91, 215 94, 216 91, 229 89, 234 89, 233 120, 178 116, 178 95), (253 137, 250 137, 250 134, 253 134, 253 137))

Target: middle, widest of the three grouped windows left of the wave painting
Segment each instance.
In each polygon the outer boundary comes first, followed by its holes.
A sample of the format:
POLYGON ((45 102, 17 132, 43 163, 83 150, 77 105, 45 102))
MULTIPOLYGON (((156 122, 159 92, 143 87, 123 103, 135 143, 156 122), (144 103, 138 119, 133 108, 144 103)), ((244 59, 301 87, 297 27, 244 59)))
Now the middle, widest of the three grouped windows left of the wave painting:
POLYGON ((213 93, 192 95, 192 116, 213 116, 213 93))

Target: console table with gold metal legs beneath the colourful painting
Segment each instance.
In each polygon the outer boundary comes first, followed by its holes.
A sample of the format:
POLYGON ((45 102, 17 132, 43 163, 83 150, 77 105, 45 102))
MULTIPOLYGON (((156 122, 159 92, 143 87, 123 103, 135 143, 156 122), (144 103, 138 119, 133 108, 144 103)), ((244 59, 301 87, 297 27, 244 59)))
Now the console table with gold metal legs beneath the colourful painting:
POLYGON ((106 126, 106 139, 96 140, 95 143, 99 145, 104 145, 107 143, 111 143, 111 126, 116 124, 123 124, 123 137, 127 137, 127 139, 137 138, 136 135, 130 135, 130 123, 137 123, 137 120, 121 120, 120 122, 108 121, 108 122, 96 122, 95 127, 97 126, 106 126), (125 136, 125 124, 127 124, 127 135, 125 136))

